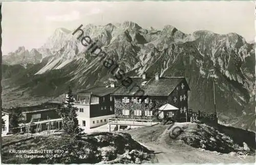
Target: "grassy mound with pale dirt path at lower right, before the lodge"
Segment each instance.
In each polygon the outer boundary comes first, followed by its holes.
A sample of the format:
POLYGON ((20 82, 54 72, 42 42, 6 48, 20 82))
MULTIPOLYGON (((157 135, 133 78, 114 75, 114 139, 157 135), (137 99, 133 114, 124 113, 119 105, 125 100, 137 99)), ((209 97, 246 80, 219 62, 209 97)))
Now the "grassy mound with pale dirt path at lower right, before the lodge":
MULTIPOLYGON (((237 137, 228 137, 228 135, 221 133, 218 130, 215 130, 215 128, 206 125, 196 123, 190 123, 188 125, 184 124, 185 123, 175 123, 175 125, 173 126, 173 128, 175 126, 180 126, 184 129, 184 132, 175 140, 169 137, 169 132, 166 130, 169 125, 142 127, 134 130, 129 130, 127 131, 127 133, 130 133, 133 139, 137 142, 140 142, 149 149, 157 152, 157 158, 159 160, 159 163, 245 163, 255 161, 255 156, 247 156, 246 159, 241 159, 237 156, 235 152, 231 152, 233 154, 231 155, 216 152, 214 150, 208 151, 201 148, 194 148, 202 147, 203 144, 208 144, 207 149, 209 149, 211 145, 212 149, 215 150, 217 150, 217 148, 215 148, 214 146, 219 147, 219 151, 221 151, 221 147, 225 147, 224 149, 222 149, 223 152, 226 149, 235 151, 232 146, 233 144, 236 144, 234 141, 236 141, 237 137), (191 137, 191 141, 186 140, 188 139, 188 137, 191 137), (198 139, 202 140, 202 143, 200 143, 198 139), (216 143, 212 143, 213 141, 209 142, 210 140, 216 140, 216 143), (194 147, 191 147, 190 145, 194 147)), ((238 132, 236 132, 236 134, 237 133, 238 132)), ((254 140, 255 133, 254 138, 253 135, 250 136, 250 141, 253 142, 254 140)))

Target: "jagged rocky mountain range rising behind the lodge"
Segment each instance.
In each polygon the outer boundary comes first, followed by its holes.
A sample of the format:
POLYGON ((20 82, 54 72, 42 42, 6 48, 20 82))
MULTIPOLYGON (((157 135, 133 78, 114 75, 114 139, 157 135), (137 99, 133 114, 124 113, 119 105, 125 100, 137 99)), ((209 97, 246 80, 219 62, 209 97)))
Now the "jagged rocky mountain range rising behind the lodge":
MULTIPOLYGON (((141 76, 144 71, 148 75, 158 71, 161 76, 185 76, 191 89, 189 108, 194 111, 214 111, 212 89, 216 80, 219 119, 233 126, 254 128, 254 42, 247 43, 236 33, 185 34, 171 25, 162 30, 143 29, 130 21, 88 24, 82 29, 84 35, 102 43, 107 56, 127 76, 141 76)), ((86 47, 72 32, 57 29, 40 48, 28 51, 19 47, 4 56, 4 91, 15 88, 29 95, 27 99, 50 98, 66 92, 69 85, 79 90, 114 78, 97 59, 85 53, 86 47)), ((9 94, 4 92, 4 102, 8 102, 9 94)))

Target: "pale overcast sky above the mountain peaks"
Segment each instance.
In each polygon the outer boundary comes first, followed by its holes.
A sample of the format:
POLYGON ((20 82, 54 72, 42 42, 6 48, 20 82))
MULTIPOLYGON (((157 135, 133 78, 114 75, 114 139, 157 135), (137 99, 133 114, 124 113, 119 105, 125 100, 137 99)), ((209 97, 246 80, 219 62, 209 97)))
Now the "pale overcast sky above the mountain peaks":
POLYGON ((209 30, 254 40, 254 2, 3 2, 3 54, 38 48, 57 28, 131 20, 142 28, 170 24, 184 33, 209 30))

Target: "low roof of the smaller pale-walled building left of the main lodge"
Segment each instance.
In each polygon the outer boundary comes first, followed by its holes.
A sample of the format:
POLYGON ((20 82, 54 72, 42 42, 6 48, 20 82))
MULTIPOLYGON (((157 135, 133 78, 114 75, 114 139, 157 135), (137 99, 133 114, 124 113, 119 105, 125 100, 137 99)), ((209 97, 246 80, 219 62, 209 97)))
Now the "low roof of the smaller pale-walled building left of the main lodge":
POLYGON ((106 88, 105 86, 94 86, 92 88, 77 92, 77 94, 92 94, 96 96, 105 96, 112 94, 117 88, 114 87, 108 87, 106 88))

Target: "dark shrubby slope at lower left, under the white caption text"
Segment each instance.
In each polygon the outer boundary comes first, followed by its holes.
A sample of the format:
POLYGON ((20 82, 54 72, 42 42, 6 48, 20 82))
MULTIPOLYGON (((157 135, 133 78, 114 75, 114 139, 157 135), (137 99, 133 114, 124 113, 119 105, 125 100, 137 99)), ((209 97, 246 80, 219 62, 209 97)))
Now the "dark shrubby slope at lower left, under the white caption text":
MULTIPOLYGON (((3 144, 13 141, 26 139, 26 134, 13 135, 3 137, 3 144)), ((63 163, 64 160, 47 160, 49 158, 25 158, 25 154, 9 153, 9 150, 62 150, 63 146, 70 144, 66 136, 62 138, 63 134, 55 135, 41 135, 36 139, 30 139, 23 142, 8 145, 3 148, 3 163, 63 163), (23 155, 23 158, 16 157, 16 155, 23 155)), ((30 137, 30 135, 29 135, 30 137)), ((68 151, 68 155, 61 155, 68 157, 70 155, 78 155, 78 160, 69 161, 68 163, 97 163, 97 162, 113 162, 113 163, 141 163, 153 162, 154 155, 150 154, 152 151, 131 139, 131 135, 125 133, 110 133, 110 132, 94 132, 84 135, 82 137, 83 145, 68 151), (84 151, 84 152, 83 152, 84 151), (84 154, 86 153, 86 154, 84 154), (90 157, 91 156, 91 157, 90 157), (80 158, 80 157, 83 157, 80 158), (89 157, 89 159, 84 159, 89 157)), ((77 145, 77 144, 74 144, 77 145)), ((68 147, 70 149, 70 147, 68 147)), ((37 154, 27 154, 37 155, 37 154)), ((42 154, 45 155, 46 154, 42 154)), ((54 155, 54 154, 53 154, 54 155)), ((72 156, 71 156, 72 158, 72 156)))

